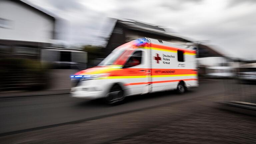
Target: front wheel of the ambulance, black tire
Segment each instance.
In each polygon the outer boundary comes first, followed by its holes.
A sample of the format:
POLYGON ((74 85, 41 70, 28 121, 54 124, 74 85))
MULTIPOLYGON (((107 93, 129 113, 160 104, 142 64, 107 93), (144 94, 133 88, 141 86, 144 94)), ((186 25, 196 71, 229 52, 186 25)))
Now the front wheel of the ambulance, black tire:
POLYGON ((124 100, 124 91, 119 85, 114 85, 105 98, 107 104, 116 104, 124 100))

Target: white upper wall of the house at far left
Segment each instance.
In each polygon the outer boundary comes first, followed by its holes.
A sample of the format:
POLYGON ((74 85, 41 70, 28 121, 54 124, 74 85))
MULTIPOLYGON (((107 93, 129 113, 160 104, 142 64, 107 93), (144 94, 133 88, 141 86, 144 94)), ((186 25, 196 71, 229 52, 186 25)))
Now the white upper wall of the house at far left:
POLYGON ((0 39, 50 43, 54 20, 23 4, 0 0, 0 19, 9 20, 9 28, 0 27, 0 39))

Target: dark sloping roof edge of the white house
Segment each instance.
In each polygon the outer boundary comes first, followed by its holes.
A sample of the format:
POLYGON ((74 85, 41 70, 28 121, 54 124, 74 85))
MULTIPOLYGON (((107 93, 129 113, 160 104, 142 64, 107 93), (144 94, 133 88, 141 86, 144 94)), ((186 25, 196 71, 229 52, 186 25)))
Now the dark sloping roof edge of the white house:
POLYGON ((36 6, 36 5, 33 5, 31 2, 28 2, 27 0, 11 0, 11 1, 14 1, 14 2, 18 2, 24 6, 27 6, 51 19, 55 19, 57 18, 55 15, 51 14, 50 12, 44 10, 43 8, 39 7, 39 6, 36 6))

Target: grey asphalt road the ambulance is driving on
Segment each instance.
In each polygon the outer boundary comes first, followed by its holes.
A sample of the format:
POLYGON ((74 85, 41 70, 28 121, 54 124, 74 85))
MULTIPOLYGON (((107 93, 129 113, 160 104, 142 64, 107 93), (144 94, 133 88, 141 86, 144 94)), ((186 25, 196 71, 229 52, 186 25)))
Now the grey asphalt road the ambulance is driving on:
POLYGON ((0 99, 0 134, 178 102, 224 91, 223 80, 208 80, 183 95, 173 91, 126 98, 124 104, 70 98, 69 94, 0 99))

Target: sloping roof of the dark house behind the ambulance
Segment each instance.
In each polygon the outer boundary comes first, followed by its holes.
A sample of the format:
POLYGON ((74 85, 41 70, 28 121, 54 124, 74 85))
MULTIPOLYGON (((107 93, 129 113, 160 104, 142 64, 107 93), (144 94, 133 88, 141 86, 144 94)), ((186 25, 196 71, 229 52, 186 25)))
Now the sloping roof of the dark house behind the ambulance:
POLYGON ((182 38, 177 34, 166 33, 165 29, 161 28, 160 26, 147 24, 144 22, 139 22, 131 19, 117 19, 117 23, 122 24, 127 29, 151 33, 151 34, 155 34, 163 37, 168 37, 171 39, 179 39, 179 40, 184 40, 186 42, 192 42, 191 40, 182 38))

